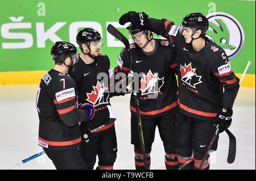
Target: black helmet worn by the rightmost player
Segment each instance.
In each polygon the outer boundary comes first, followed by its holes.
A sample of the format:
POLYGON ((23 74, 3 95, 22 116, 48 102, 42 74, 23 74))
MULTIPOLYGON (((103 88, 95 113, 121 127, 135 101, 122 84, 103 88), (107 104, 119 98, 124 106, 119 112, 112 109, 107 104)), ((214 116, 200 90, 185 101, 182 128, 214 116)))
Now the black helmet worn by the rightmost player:
POLYGON ((201 36, 203 36, 209 28, 209 21, 200 12, 193 12, 183 18, 182 25, 184 27, 192 28, 193 33, 195 33, 197 30, 201 30, 201 36))

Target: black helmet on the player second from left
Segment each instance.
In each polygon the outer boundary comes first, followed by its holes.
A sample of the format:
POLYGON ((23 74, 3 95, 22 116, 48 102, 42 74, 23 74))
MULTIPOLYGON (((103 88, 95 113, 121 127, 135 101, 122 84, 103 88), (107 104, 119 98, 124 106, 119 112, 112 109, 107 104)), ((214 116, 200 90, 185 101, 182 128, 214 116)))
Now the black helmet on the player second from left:
POLYGON ((86 47, 90 47, 90 41, 101 40, 101 35, 97 30, 92 28, 84 28, 84 30, 79 31, 76 36, 76 43, 79 45, 80 49, 84 43, 86 47))

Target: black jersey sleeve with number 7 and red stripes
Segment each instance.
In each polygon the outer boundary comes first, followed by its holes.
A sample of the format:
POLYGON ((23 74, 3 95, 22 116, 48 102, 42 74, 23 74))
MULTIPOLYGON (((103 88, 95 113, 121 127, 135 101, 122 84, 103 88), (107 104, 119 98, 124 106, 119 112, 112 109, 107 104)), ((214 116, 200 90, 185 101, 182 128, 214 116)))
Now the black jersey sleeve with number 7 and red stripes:
POLYGON ((75 81, 63 76, 51 85, 51 96, 60 119, 69 127, 88 120, 88 112, 77 108, 75 81))

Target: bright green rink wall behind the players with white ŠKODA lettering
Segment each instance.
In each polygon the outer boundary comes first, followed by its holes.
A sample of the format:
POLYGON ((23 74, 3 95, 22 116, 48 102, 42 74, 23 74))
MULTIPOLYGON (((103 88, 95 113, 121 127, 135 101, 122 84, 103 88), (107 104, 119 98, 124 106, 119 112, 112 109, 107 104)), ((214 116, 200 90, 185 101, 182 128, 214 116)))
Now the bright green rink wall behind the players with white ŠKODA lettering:
MULTIPOLYGON (((182 18, 190 12, 202 12, 208 15, 210 12, 225 12, 232 15, 241 24, 245 33, 245 42, 241 52, 231 60, 232 69, 235 73, 242 73, 246 62, 252 62, 248 74, 255 74, 255 1, 34 1, 34 0, 18 0, 18 1, 1 1, 0 6, 0 71, 31 71, 31 70, 48 70, 53 66, 51 61, 50 50, 53 42, 48 39, 45 47, 39 47, 37 39, 38 35, 36 24, 42 26, 47 31, 57 22, 65 22, 64 26, 56 31, 56 35, 63 41, 70 41, 69 27, 73 22, 98 22, 102 27, 102 36, 104 45, 101 52, 109 56, 112 67, 116 66, 116 60, 122 47, 108 47, 106 22, 118 22, 119 17, 130 10, 144 11, 153 18, 166 18, 173 20, 176 24, 180 24, 182 18), (45 5, 45 15, 42 14, 42 5, 45 5), (42 15, 42 16, 40 16, 42 15), (24 16, 21 22, 12 22, 9 18, 14 16, 24 16), (6 25, 6 23, 10 23, 6 25), (31 23, 31 28, 13 28, 10 32, 30 33, 32 36, 32 47, 30 48, 4 48, 5 43, 24 42, 23 39, 6 38, 5 27, 20 27, 24 24, 31 23), (17 24, 19 23, 19 24, 17 24)), ((15 20, 15 19, 13 19, 15 20)), ((17 21, 17 20, 16 20, 17 21)), ((81 29, 81 28, 80 28, 81 29)), ((79 29, 79 30, 80 30, 79 29)), ((42 29, 41 29, 42 30, 42 29)), ((125 28, 119 28, 127 37, 128 33, 125 28)), ((15 35, 15 34, 13 34, 15 35)), ((19 34, 20 35, 20 34, 19 34)), ((18 35, 15 35, 18 36, 18 35)), ((233 35, 234 36, 234 35, 233 35)), ((155 36, 156 37, 156 36, 155 36)), ((233 37, 229 37, 233 38, 233 37)), ((75 42, 71 42, 75 43, 75 42)), ((216 43, 218 43, 216 41, 216 43)), ((220 44, 221 45, 221 44, 220 44)))

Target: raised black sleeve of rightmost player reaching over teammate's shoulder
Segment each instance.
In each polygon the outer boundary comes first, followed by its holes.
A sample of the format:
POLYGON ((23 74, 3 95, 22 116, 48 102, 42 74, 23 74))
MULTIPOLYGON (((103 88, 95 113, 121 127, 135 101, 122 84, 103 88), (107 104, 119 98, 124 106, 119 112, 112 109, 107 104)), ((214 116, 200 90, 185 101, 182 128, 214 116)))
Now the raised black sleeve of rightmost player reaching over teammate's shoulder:
POLYGON ((179 26, 167 19, 148 18, 148 29, 170 40, 172 45, 175 45, 176 36, 179 35, 179 26))

